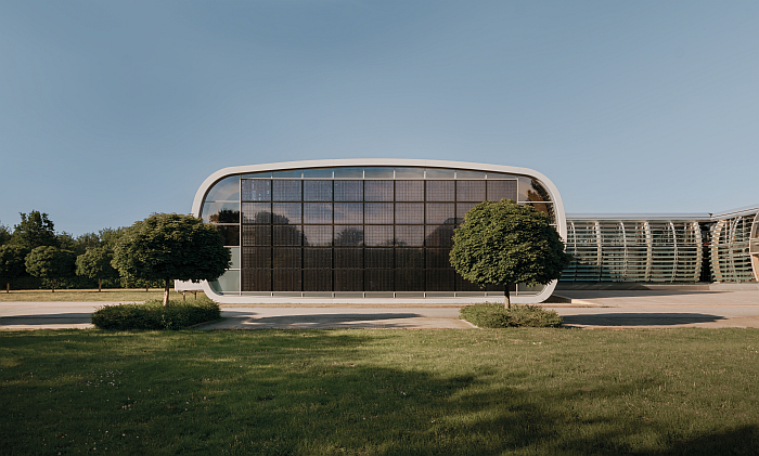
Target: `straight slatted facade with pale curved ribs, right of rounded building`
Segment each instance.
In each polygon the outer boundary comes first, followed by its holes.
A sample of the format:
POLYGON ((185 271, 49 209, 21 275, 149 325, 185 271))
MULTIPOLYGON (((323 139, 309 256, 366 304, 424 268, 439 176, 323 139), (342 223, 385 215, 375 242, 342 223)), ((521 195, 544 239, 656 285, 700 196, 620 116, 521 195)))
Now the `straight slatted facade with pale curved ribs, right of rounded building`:
POLYGON ((702 232, 695 221, 567 220, 567 282, 697 282, 702 232))

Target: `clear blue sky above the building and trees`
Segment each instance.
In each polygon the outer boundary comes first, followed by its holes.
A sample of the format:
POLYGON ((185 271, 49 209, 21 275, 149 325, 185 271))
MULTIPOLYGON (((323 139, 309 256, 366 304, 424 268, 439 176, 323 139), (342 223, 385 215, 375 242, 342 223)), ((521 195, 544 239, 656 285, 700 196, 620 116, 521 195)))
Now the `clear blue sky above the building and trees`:
POLYGON ((0 224, 189 213, 215 171, 524 167, 567 213, 759 204, 759 2, 0 2, 0 224))

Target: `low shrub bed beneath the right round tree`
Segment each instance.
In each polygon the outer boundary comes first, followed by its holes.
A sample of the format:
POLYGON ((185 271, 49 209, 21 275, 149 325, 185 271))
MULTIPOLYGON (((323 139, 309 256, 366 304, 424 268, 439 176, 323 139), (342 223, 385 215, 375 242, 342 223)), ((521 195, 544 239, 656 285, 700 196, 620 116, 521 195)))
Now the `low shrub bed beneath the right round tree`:
POLYGON ((530 326, 536 328, 558 328, 562 317, 555 311, 537 305, 514 305, 506 309, 500 303, 467 305, 461 310, 461 318, 480 328, 506 328, 530 326))

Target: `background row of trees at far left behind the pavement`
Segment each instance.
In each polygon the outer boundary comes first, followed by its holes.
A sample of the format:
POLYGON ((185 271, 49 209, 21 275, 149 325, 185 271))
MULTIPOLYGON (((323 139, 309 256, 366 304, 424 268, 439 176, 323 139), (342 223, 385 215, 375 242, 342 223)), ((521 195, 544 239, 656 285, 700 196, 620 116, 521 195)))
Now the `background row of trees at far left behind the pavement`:
POLYGON ((74 237, 56 233, 47 213, 21 213, 13 230, 0 224, 0 284, 5 290, 156 287, 157 282, 119 276, 111 261, 125 229, 74 237))

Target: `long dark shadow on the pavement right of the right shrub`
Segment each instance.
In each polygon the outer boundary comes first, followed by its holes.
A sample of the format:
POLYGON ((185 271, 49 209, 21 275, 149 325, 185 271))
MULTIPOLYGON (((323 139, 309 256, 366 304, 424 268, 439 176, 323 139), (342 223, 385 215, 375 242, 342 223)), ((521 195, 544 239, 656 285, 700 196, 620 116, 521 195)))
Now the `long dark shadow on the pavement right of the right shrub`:
POLYGON ((596 313, 564 315, 565 326, 674 326, 725 320, 720 315, 703 313, 596 313))

